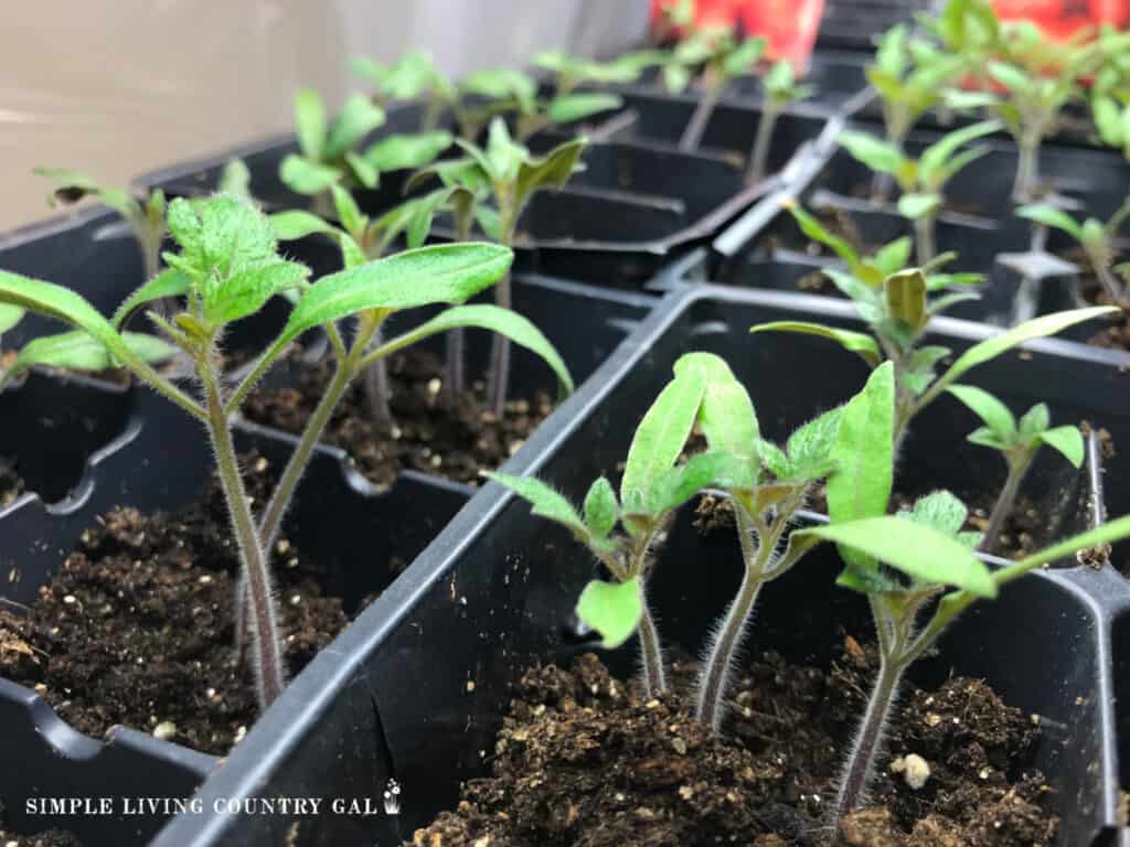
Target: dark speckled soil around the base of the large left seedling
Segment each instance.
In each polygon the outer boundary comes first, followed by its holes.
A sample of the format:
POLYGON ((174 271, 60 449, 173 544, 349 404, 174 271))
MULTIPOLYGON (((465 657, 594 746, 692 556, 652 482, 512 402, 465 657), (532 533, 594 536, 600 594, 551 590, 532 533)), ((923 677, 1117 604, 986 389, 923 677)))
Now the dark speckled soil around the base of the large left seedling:
MULTIPOLYGON (((275 472, 243 461, 263 503, 275 472)), ((348 619, 316 565, 285 538, 272 571, 287 669, 297 673, 348 619)), ((237 553, 217 482, 173 514, 116 508, 82 533, 25 620, 0 620, 0 674, 44 697, 79 732, 124 724, 223 756, 255 721, 251 670, 234 647, 237 553)))

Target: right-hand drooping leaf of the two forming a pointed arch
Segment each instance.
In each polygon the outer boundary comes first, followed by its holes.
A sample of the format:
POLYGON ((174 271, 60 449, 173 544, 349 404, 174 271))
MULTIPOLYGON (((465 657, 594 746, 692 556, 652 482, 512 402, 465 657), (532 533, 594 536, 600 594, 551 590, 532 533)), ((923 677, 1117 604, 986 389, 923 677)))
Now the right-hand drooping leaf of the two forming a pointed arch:
POLYGON ((675 363, 678 377, 696 370, 705 385, 698 408, 698 425, 712 451, 732 457, 736 483, 740 488, 756 484, 757 456, 754 444, 760 437, 757 413, 749 392, 738 382, 730 366, 720 356, 706 352, 686 353, 675 363))

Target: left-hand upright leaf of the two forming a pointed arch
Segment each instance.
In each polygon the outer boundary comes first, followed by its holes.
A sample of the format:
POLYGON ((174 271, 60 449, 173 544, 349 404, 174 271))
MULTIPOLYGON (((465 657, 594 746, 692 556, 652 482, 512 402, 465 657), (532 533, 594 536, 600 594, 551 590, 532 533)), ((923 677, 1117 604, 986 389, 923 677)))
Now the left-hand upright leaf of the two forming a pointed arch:
POLYGON ((706 386, 697 370, 677 375, 655 398, 636 427, 620 479, 625 512, 646 509, 651 492, 683 453, 698 417, 706 386))

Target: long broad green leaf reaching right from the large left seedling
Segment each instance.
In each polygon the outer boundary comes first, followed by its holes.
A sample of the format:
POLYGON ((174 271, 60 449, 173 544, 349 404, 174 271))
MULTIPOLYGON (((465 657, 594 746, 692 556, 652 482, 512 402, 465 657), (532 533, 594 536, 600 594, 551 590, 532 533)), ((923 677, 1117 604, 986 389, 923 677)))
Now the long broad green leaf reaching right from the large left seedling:
POLYGON ((513 259, 512 251, 495 244, 443 244, 331 273, 306 289, 275 347, 365 309, 462 303, 502 279, 513 259))

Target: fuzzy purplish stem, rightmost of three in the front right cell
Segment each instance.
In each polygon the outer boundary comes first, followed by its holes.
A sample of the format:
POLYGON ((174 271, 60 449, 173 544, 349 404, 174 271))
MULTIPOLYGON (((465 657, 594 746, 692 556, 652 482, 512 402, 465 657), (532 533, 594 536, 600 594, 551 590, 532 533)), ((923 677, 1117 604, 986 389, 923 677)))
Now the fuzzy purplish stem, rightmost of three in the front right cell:
POLYGON ((867 786, 875 768, 875 759, 883 746, 884 728, 887 716, 898 692, 898 682, 909 662, 902 653, 902 644, 897 632, 889 622, 889 610, 880 597, 869 597, 875 625, 879 631, 880 664, 871 697, 867 702, 867 711, 855 733, 851 757, 844 769, 840 791, 833 807, 833 823, 838 826, 844 815, 854 812, 863 803, 867 786), (885 630, 884 627, 888 629, 885 630))

